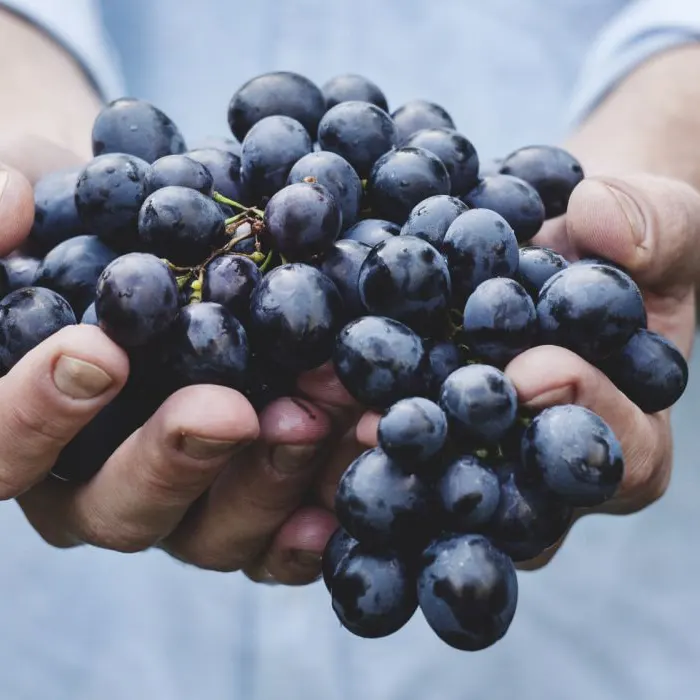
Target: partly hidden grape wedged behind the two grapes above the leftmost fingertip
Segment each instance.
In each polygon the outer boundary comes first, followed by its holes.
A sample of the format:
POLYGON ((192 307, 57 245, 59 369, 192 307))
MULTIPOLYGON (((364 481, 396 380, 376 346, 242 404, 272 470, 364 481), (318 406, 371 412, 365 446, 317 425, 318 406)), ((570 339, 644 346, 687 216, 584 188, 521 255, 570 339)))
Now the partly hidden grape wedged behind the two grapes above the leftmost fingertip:
POLYGON ((102 271, 116 257, 97 236, 69 238, 43 259, 34 285, 60 294, 80 317, 95 299, 102 271))

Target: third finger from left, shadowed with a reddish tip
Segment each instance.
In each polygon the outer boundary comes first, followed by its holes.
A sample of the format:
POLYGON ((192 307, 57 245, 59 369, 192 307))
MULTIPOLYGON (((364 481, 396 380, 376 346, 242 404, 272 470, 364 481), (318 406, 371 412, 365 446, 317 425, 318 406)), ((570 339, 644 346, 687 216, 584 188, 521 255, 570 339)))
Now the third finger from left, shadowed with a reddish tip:
POLYGON ((260 440, 241 454, 168 538, 200 568, 235 571, 257 560, 313 482, 331 420, 307 401, 280 399, 260 416, 260 440))

